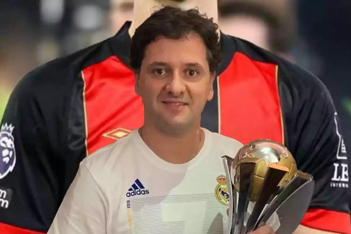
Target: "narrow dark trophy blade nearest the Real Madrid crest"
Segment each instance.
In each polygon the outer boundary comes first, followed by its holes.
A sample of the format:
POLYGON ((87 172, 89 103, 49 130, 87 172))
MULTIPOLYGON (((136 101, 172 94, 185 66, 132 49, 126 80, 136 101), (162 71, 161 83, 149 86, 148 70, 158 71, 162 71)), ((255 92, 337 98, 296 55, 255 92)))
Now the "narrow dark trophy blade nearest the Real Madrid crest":
MULTIPOLYGON (((234 223, 234 233, 239 234, 244 226, 244 219, 246 217, 247 208, 250 201, 250 186, 252 186, 252 178, 255 170, 256 163, 243 162, 240 163, 240 182, 239 182, 239 198, 237 203, 236 223, 234 223)), ((236 193, 236 190, 233 191, 236 193)))

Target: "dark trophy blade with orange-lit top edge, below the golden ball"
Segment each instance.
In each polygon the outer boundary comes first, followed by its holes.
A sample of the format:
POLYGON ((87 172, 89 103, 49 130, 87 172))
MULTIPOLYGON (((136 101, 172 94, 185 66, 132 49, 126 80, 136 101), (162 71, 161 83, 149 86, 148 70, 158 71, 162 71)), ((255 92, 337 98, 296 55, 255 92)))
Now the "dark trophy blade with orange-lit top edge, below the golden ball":
POLYGON ((289 171, 288 168, 270 163, 265 179, 259 190, 259 197, 254 205, 252 214, 247 221, 246 228, 242 231, 243 234, 250 233, 254 230, 257 220, 265 208, 272 194, 279 189, 278 184, 283 179, 284 175, 289 171))

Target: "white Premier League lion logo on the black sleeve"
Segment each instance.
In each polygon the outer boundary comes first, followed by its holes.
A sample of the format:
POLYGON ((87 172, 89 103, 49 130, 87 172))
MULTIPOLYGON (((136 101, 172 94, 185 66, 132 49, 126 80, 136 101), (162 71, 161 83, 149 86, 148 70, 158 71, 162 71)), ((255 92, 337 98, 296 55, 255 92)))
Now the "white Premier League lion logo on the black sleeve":
POLYGON ((16 153, 12 135, 14 127, 5 123, 0 130, 0 179, 12 172, 16 164, 16 153))

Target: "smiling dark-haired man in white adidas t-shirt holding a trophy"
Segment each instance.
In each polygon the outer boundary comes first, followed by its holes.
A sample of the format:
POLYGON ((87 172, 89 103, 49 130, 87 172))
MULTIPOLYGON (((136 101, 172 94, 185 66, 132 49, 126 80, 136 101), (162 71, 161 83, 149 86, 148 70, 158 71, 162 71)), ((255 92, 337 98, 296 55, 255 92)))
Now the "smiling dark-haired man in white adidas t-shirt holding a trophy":
POLYGON ((49 234, 223 233, 227 206, 213 176, 224 179, 221 156, 242 144, 200 128, 221 60, 216 30, 174 7, 138 27, 130 65, 144 125, 83 160, 49 234))

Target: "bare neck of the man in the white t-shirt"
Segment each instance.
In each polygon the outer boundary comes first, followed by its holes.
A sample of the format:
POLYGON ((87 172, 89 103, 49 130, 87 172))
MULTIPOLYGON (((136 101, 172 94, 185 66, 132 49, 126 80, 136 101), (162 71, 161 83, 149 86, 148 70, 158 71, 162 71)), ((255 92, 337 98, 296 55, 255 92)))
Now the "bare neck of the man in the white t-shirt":
POLYGON ((205 133, 200 127, 194 127, 187 132, 172 136, 146 122, 139 129, 139 134, 157 156, 173 164, 182 164, 192 160, 199 153, 205 141, 205 133))

